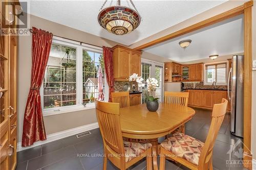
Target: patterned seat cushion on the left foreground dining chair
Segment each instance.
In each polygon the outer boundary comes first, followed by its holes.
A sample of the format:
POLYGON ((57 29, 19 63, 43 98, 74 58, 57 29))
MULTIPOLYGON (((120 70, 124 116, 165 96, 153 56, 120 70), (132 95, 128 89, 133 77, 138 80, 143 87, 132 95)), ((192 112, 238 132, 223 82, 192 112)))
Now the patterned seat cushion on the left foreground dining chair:
POLYGON ((124 151, 125 151, 125 162, 136 158, 147 149, 152 147, 151 143, 134 143, 129 141, 123 141, 124 151))

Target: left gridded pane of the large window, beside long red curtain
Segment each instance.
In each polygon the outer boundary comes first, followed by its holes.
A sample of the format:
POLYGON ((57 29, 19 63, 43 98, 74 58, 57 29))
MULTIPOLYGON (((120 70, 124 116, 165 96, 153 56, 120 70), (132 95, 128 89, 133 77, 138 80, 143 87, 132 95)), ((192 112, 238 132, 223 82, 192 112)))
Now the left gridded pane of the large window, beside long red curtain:
POLYGON ((76 104, 76 48, 52 44, 44 77, 44 108, 76 104))

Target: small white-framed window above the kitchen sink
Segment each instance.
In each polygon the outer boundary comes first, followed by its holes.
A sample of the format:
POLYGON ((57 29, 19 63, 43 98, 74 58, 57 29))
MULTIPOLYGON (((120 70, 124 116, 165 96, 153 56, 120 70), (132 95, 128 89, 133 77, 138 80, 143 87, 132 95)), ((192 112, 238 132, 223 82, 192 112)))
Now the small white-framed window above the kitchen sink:
POLYGON ((216 82, 216 85, 227 84, 227 63, 215 63, 205 64, 204 71, 204 84, 212 85, 216 82))

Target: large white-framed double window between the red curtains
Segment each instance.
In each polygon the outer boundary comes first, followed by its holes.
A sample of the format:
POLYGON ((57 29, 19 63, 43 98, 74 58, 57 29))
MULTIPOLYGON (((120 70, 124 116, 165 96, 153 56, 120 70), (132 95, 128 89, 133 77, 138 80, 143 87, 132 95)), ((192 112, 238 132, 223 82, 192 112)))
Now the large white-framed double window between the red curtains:
POLYGON ((53 39, 41 86, 44 111, 94 103, 94 99, 98 98, 99 66, 102 67, 104 91, 102 48, 53 39))

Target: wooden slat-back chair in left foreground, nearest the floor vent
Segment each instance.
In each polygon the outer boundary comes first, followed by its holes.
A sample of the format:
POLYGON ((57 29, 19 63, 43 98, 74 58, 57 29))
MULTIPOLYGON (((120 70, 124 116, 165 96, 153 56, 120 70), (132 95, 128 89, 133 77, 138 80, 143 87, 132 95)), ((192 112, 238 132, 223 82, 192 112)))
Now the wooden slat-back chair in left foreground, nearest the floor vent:
POLYGON ((147 169, 152 169, 152 144, 123 141, 118 103, 95 100, 99 129, 104 144, 103 169, 109 159, 123 170, 146 157, 147 169))

